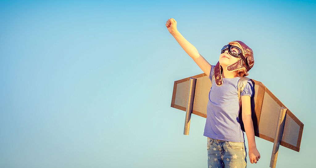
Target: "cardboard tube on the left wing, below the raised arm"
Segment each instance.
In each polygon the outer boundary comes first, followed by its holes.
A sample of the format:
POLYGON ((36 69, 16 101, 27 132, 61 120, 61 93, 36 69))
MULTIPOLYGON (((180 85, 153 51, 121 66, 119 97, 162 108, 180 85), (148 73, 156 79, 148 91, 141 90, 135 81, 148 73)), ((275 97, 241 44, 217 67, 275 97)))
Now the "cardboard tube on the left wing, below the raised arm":
POLYGON ((197 81, 196 78, 190 78, 188 102, 186 104, 186 114, 185 114, 185 123, 184 123, 184 131, 183 131, 184 135, 189 135, 196 81, 197 81))

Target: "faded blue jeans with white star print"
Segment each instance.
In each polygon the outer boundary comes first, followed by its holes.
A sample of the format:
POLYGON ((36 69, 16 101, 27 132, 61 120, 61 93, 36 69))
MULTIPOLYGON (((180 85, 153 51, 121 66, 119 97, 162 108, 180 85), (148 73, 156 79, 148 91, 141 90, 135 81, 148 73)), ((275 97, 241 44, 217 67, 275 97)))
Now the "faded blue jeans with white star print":
POLYGON ((244 142, 228 142, 207 138, 208 168, 246 168, 244 142))

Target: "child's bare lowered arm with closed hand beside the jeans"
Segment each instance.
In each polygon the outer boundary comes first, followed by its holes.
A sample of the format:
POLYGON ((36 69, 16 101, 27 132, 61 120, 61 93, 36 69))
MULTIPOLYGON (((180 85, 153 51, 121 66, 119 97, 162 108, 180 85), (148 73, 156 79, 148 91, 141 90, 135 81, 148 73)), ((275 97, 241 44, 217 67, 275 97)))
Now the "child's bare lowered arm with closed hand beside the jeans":
POLYGON ((242 121, 244 122, 244 127, 248 140, 249 149, 249 159, 251 163, 257 163, 260 159, 260 153, 256 146, 255 134, 253 130, 253 124, 251 119, 251 104, 250 96, 241 96, 241 106, 242 106, 242 121))

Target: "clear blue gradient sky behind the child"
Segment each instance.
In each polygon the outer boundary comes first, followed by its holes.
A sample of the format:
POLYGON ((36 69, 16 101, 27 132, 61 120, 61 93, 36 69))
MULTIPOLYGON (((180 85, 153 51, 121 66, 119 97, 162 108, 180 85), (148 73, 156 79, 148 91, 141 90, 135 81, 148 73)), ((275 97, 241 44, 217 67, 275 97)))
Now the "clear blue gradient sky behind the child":
MULTIPOLYGON (((315 1, 0 1, 0 167, 207 167, 205 119, 170 107, 173 82, 203 73, 167 31, 210 64, 241 40, 261 81, 304 123, 301 151, 277 167, 314 167, 315 1)), ((256 137, 258 164, 273 143, 256 137)))

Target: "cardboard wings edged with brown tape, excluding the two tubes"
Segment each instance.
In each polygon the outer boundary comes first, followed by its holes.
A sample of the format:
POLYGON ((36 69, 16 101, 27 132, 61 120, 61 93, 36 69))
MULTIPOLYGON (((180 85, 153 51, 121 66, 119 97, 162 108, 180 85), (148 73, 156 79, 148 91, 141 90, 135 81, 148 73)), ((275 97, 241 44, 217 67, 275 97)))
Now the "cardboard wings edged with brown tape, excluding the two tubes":
MULTIPOLYGON (((174 81, 171 107, 186 111, 190 78, 197 79, 192 113, 206 118, 212 84, 205 73, 174 81)), ((251 99, 252 121, 255 136, 274 142, 280 108, 287 107, 264 84, 255 80, 252 80, 252 83, 254 84, 254 96, 251 99)), ((304 124, 287 109, 281 145, 299 152, 303 127, 304 124)))

